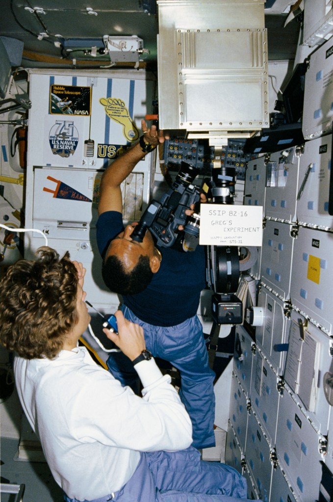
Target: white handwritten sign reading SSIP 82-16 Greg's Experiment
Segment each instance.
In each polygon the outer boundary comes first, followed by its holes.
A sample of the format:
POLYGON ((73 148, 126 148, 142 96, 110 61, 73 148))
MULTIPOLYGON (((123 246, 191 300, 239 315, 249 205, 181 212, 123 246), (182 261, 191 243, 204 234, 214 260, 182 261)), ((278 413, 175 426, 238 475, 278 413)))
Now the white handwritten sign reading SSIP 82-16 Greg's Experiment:
POLYGON ((262 206, 201 204, 200 244, 261 246, 262 206))

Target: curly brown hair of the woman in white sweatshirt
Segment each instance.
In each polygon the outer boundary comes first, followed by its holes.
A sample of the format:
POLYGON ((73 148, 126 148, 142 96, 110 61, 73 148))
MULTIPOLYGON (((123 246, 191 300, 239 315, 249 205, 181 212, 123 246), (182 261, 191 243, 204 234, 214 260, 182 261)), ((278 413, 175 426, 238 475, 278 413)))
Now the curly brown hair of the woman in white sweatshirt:
POLYGON ((0 280, 0 343, 25 359, 53 359, 78 322, 78 275, 69 253, 47 246, 19 260, 0 280))

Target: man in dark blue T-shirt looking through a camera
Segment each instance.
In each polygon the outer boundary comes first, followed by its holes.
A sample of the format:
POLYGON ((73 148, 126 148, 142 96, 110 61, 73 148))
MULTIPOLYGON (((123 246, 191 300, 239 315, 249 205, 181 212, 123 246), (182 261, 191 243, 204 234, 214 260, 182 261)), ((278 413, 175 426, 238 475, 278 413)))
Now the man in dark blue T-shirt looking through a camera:
MULTIPOLYGON (((215 445, 215 374, 197 316, 206 286, 204 247, 187 253, 157 248, 149 230, 137 242, 131 238, 134 225, 123 226, 120 184, 164 141, 162 132, 155 126, 147 128, 144 120, 142 130, 141 141, 110 164, 101 180, 97 244, 103 279, 111 291, 122 295, 124 316, 143 327, 147 349, 179 369, 180 397, 192 420, 193 446, 208 448, 215 445)), ((107 365, 124 385, 129 383, 131 371, 128 365, 123 370, 115 354, 107 365)))

